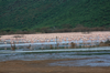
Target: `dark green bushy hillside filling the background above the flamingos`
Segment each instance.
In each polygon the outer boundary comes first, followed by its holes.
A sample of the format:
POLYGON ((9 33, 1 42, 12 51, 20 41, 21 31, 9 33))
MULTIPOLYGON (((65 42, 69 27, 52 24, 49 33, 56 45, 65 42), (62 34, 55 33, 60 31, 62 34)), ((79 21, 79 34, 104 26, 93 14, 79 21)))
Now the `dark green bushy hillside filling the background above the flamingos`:
POLYGON ((110 0, 0 0, 0 30, 110 27, 110 0))

